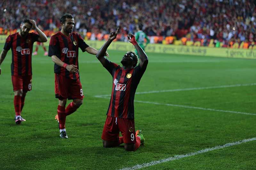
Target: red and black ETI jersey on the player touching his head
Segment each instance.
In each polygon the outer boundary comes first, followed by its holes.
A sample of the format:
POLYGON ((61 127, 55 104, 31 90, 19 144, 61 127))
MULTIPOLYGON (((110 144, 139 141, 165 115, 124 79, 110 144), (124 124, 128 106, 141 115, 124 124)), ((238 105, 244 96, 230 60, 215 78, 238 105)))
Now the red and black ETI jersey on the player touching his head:
POLYGON ((4 49, 12 49, 12 76, 31 76, 32 75, 32 52, 33 43, 38 41, 39 35, 28 33, 26 37, 19 33, 9 35, 5 41, 4 49))

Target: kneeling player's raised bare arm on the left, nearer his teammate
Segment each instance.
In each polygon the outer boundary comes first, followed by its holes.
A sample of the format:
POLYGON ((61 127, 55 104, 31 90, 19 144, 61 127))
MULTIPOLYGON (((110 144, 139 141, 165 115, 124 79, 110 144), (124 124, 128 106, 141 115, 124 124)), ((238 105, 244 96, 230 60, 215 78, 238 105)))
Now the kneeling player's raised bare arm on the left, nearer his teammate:
POLYGON ((106 58, 104 57, 108 46, 111 44, 113 40, 116 39, 116 35, 118 33, 119 28, 117 28, 116 31, 112 31, 109 33, 108 40, 105 42, 105 44, 100 48, 98 53, 96 54, 96 57, 98 60, 100 60, 100 63, 105 67, 106 66, 106 58))

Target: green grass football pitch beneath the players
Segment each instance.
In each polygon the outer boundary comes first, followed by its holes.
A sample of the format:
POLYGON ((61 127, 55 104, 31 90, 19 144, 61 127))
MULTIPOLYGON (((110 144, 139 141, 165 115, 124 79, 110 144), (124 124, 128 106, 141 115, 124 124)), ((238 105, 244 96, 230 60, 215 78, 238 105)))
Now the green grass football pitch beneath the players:
MULTIPOLYGON (((121 64, 125 51, 108 53, 110 61, 121 64)), ((41 47, 32 56, 32 91, 21 114, 27 121, 19 126, 11 57, 9 51, 0 75, 0 169, 121 169, 256 137, 256 115, 135 102, 135 127, 143 130, 145 145, 136 152, 103 148, 109 99, 94 96, 111 93, 112 77, 95 56, 80 51, 84 103, 67 117, 69 138, 61 139, 54 120, 54 64, 41 47)), ((137 92, 256 83, 256 60, 156 53, 148 58, 137 92)), ((256 85, 136 94, 135 100, 256 113, 256 85)), ((143 169, 254 169, 255 148, 252 141, 143 169)))

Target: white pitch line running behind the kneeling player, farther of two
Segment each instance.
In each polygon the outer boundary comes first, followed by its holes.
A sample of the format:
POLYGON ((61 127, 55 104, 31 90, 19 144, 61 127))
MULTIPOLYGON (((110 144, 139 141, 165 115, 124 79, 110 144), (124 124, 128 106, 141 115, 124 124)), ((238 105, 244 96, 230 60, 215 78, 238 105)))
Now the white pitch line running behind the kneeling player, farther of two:
MULTIPOLYGON (((161 93, 161 92, 179 92, 179 91, 189 91, 189 90, 204 90, 204 89, 217 89, 217 88, 228 88, 228 87, 240 87, 240 86, 253 86, 256 83, 250 84, 237 84, 237 85, 219 85, 219 86, 209 86, 209 87, 195 87, 195 88, 185 88, 185 89, 171 89, 171 90, 155 90, 148 92, 136 92, 135 94, 148 94, 148 93, 161 93)), ((110 97, 111 95, 96 95, 94 97, 110 97)))

